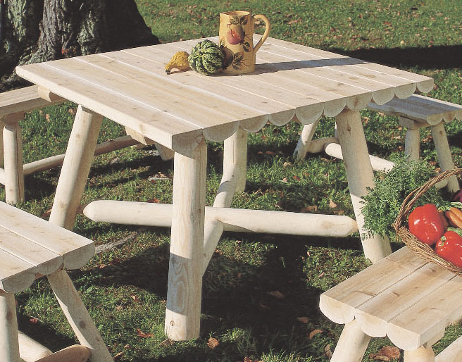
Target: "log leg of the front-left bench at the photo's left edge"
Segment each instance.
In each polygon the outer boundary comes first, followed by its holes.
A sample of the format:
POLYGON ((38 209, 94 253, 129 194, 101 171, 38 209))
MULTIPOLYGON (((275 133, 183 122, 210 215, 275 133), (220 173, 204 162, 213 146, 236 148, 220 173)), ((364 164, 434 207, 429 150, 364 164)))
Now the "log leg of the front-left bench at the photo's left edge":
POLYGON ((0 361, 19 362, 18 320, 14 294, 0 291, 0 361))

